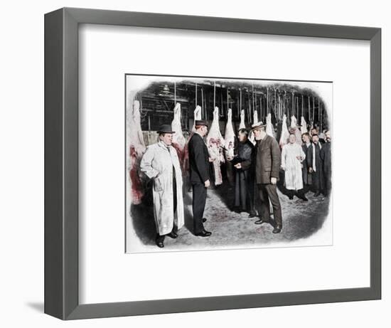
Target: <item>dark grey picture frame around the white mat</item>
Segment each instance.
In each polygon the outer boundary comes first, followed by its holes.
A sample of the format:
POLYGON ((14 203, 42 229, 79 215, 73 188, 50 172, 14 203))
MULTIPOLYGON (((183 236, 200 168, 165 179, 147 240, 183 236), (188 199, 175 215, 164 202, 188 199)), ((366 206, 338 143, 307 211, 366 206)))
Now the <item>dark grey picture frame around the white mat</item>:
POLYGON ((378 300, 380 297, 380 28, 73 8, 59 9, 45 14, 45 313, 60 319, 82 319, 378 300), (79 304, 77 241, 79 23, 370 41, 370 287, 79 304))

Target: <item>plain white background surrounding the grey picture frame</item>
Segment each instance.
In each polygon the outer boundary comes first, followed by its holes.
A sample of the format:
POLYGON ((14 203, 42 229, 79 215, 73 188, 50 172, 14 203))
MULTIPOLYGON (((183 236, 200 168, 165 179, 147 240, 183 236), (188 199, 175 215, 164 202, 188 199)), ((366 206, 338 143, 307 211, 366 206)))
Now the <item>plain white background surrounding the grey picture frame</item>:
MULTIPOLYGON (((387 1, 7 1, 1 6, 0 303, 3 327, 389 327, 391 224, 390 11, 387 1), (43 14, 63 6, 300 21, 382 28, 383 296, 381 301, 303 305, 61 322, 43 314, 43 14)), ((169 51, 169 49, 168 49, 169 51)), ((287 58, 289 60, 289 58, 287 58)), ((352 76, 352 78, 354 78, 352 76)), ((347 142, 368 137, 368 122, 350 127, 347 142)), ((359 154, 358 154, 359 156, 359 154)), ((359 179, 359 177, 358 177, 359 179)), ((352 226, 354 233, 354 226, 352 226)), ((360 256, 360 254, 355 254, 360 256)), ((338 268, 336 268, 338 270, 338 268)), ((250 279, 257 276, 249 274, 250 279)), ((286 273, 289 279, 289 273, 286 273)))

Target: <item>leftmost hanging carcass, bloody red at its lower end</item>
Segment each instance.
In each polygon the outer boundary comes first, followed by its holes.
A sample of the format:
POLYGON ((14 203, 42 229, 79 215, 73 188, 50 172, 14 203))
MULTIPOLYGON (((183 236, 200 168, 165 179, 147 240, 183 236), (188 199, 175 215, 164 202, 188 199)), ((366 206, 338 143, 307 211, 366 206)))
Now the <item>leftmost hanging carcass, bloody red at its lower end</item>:
POLYGON ((129 127, 129 178, 131 201, 134 204, 139 204, 141 203, 141 198, 144 194, 139 166, 146 147, 141 130, 140 102, 138 100, 134 100, 127 119, 127 125, 129 127))

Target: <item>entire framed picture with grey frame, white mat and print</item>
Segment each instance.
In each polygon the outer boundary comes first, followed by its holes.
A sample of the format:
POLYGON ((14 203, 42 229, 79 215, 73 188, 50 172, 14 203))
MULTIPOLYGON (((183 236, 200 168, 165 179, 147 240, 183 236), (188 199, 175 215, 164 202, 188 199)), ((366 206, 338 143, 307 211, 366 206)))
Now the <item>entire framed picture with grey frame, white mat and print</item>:
POLYGON ((380 53, 380 28, 45 14, 45 313, 380 299, 380 53))

